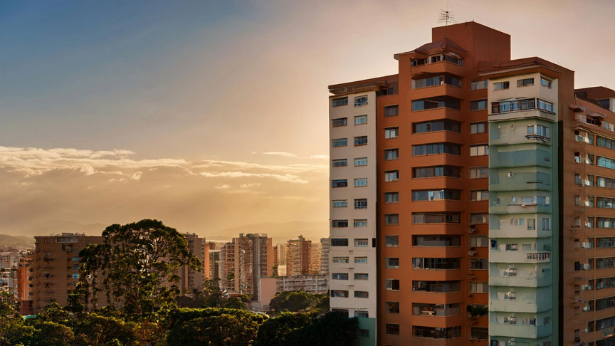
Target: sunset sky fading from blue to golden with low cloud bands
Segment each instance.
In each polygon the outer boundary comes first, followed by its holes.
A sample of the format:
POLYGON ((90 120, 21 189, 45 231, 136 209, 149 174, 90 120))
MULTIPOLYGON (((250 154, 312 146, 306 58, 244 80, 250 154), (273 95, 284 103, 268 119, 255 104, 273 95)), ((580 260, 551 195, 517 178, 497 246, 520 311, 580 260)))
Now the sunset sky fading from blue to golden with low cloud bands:
MULTIPOLYGON (((152 218, 204 236, 313 221, 326 236, 327 85, 396 73, 393 54, 430 42, 445 7, 0 0, 0 234, 152 218)), ((513 58, 615 88, 614 1, 448 9, 509 33, 513 58)))

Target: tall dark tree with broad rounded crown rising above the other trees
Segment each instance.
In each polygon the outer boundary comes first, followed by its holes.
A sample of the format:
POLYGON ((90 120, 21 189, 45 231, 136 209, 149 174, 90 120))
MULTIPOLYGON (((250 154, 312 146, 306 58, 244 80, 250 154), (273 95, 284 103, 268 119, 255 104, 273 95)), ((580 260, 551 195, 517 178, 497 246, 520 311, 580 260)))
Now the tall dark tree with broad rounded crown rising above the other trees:
POLYGON ((95 307, 102 290, 110 304, 121 305, 128 315, 155 314, 174 307, 179 268, 200 270, 186 237, 161 221, 114 224, 102 236, 102 244, 80 253, 79 293, 85 306, 95 307))

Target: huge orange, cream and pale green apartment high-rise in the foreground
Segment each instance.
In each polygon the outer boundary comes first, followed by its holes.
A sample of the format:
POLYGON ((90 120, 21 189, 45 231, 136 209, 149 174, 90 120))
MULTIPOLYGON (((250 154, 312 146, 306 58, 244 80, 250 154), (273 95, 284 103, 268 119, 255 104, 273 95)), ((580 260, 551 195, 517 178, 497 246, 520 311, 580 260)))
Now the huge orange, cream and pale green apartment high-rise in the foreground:
POLYGON ((364 345, 611 345, 615 92, 474 22, 394 58, 329 87, 331 309, 364 345))

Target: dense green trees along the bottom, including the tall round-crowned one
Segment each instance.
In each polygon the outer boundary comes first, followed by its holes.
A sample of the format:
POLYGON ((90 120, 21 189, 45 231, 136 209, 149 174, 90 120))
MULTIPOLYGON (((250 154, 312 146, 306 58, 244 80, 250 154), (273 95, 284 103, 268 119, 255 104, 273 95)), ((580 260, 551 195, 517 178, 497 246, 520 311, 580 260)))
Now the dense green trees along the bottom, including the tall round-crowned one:
POLYGON ((327 313, 327 295, 278 293, 274 318, 248 311, 248 297, 228 297, 215 281, 178 297, 175 271, 200 265, 186 237, 160 221, 112 225, 103 236, 80 253, 80 283, 66 307, 51 303, 25 319, 0 294, 0 346, 344 346, 356 338, 356 319, 327 313), (103 308, 101 292, 110 302, 103 308))

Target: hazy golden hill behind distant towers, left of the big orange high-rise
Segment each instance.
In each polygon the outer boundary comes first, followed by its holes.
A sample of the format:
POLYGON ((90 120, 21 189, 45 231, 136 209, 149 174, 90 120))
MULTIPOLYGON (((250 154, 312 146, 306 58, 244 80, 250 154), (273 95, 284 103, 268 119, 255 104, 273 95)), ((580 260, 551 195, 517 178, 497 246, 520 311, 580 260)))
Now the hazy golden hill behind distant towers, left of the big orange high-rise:
POLYGON ((320 241, 320 238, 329 236, 328 221, 291 221, 285 223, 266 222, 262 224, 247 224, 204 234, 207 240, 228 241, 240 233, 266 233, 273 238, 273 243, 283 243, 290 238, 296 239, 303 235, 311 241, 320 241))

